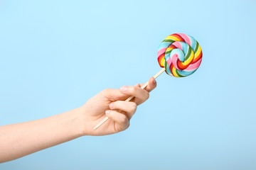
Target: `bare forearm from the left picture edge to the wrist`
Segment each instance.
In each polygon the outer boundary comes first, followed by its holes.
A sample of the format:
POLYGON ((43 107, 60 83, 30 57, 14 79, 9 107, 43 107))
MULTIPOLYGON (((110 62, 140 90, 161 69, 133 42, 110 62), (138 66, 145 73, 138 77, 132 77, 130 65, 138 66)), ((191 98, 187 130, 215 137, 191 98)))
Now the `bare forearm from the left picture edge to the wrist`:
POLYGON ((80 108, 49 118, 0 127, 0 163, 83 135, 80 108))

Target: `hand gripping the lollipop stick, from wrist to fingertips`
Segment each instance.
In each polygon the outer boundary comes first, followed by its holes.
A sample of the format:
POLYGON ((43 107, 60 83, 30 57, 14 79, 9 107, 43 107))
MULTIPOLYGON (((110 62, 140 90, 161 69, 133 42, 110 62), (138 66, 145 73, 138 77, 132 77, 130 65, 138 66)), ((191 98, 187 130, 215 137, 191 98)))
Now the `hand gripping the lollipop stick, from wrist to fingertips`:
POLYGON ((81 107, 84 135, 110 135, 121 132, 129 127, 129 120, 134 115, 137 106, 149 98, 149 92, 156 88, 154 77, 149 79, 145 89, 136 86, 122 86, 120 89, 105 89, 90 98, 81 107), (131 101, 125 101, 129 96, 134 96, 131 101), (110 119, 100 128, 93 130, 97 123, 105 118, 110 119))

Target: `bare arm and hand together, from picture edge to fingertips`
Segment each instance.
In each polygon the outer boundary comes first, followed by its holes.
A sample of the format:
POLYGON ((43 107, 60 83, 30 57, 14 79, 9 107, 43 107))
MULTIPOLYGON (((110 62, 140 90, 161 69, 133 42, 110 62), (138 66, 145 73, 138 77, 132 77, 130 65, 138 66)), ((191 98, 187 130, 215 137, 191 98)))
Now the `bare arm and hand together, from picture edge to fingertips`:
POLYGON ((0 163, 8 162, 85 135, 111 135, 129 128, 137 106, 156 88, 154 77, 146 89, 143 84, 105 89, 80 108, 25 123, 0 126, 0 163), (125 101, 134 96, 132 101, 125 101), (105 116, 110 119, 93 130, 105 116))

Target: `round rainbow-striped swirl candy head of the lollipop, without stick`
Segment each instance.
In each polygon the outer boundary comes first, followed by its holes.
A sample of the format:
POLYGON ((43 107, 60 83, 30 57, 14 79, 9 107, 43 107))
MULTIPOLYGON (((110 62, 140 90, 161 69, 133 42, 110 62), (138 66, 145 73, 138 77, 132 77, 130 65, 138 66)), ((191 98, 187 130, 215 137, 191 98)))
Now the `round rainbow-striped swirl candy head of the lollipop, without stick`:
POLYGON ((175 33, 166 37, 157 51, 157 60, 166 73, 174 77, 187 77, 201 64, 203 53, 199 43, 191 36, 175 33))

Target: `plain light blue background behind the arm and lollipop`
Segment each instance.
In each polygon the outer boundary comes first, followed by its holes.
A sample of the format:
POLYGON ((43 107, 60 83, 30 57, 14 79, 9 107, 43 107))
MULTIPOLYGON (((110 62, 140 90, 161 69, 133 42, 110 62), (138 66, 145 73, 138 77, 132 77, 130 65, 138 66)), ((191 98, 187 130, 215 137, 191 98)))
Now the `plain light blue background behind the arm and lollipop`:
MULTIPOLYGON (((203 62, 162 74, 128 130, 80 137, 0 169, 256 169, 255 1, 1 1, 0 125, 81 106, 159 72, 167 35, 203 62)), ((0 153, 1 154, 1 153, 0 153)))

